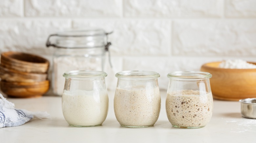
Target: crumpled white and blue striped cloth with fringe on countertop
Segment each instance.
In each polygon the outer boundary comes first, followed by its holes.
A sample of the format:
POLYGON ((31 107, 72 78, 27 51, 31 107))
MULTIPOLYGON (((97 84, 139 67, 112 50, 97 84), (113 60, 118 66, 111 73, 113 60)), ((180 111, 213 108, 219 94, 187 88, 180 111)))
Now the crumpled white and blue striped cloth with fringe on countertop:
POLYGON ((39 119, 50 119, 47 112, 30 112, 27 110, 18 110, 14 104, 6 100, 0 94, 0 128, 20 126, 31 120, 33 117, 39 119))

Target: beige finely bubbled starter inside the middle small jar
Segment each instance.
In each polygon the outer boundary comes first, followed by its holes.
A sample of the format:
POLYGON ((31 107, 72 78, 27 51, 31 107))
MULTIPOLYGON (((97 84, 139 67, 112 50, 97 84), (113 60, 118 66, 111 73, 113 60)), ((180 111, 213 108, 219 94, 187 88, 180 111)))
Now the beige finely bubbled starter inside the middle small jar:
POLYGON ((152 89, 116 89, 114 110, 123 126, 152 126, 161 106, 159 87, 152 89))

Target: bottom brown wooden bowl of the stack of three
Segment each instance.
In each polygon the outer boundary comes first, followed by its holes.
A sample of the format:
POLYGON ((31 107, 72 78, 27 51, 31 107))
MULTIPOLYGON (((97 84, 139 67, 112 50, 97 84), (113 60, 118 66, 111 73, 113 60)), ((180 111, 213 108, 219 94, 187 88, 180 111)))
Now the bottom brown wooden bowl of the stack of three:
POLYGON ((9 97, 40 97, 49 90, 49 80, 41 82, 7 82, 1 80, 0 87, 9 97))

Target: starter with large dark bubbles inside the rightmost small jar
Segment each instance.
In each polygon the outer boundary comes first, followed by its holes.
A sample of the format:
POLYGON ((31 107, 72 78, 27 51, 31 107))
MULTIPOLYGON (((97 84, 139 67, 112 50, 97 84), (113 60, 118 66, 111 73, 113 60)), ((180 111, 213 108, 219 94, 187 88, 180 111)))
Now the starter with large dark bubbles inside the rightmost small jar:
POLYGON ((167 93, 166 113, 174 126, 202 127, 212 117, 212 93, 181 90, 167 93))

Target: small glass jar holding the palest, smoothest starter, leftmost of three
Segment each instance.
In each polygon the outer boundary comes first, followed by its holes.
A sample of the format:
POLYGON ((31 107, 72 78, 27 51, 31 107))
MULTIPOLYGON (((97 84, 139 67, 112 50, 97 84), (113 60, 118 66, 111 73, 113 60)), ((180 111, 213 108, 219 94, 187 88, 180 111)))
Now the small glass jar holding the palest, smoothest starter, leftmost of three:
POLYGON ((65 120, 76 127, 101 125, 108 113, 107 73, 68 71, 63 76, 62 113, 65 120))

